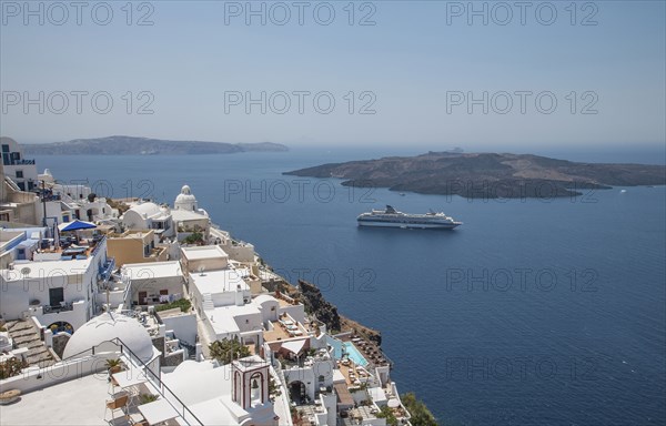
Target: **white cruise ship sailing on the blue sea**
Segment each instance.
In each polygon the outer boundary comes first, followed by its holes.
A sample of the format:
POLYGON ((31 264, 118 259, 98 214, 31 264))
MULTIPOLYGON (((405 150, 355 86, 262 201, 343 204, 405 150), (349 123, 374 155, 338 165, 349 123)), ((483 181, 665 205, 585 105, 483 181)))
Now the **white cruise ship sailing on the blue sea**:
POLYGON ((431 211, 426 214, 410 214, 398 212, 393 206, 386 205, 386 210, 372 210, 370 213, 362 213, 356 219, 359 226, 385 226, 385 227, 405 227, 405 229, 440 229, 453 230, 462 225, 453 217, 444 213, 431 211))

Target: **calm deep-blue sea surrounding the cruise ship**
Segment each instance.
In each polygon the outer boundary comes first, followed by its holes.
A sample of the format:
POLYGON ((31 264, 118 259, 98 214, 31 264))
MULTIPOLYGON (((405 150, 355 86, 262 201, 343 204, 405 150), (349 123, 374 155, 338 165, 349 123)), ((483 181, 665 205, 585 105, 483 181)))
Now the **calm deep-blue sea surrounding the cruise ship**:
POLYGON ((416 392, 443 424, 664 424, 664 186, 484 202, 281 175, 383 154, 37 160, 60 181, 88 179, 117 197, 173 203, 189 184, 214 222, 279 272, 317 283, 342 313, 380 328, 398 389, 416 392), (356 226, 359 213, 387 203, 464 225, 356 226))

